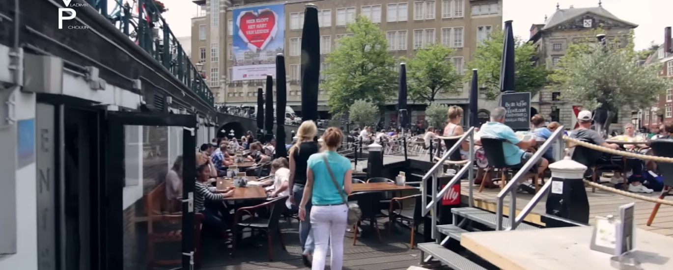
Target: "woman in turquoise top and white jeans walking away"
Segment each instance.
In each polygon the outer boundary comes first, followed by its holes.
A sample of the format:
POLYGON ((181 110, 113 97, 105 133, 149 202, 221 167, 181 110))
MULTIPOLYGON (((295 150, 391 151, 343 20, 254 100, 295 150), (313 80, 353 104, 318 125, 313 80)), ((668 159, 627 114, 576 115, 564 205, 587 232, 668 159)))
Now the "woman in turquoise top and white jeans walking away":
POLYGON ((322 135, 326 151, 311 155, 306 169, 304 196, 299 203, 299 218, 306 217, 306 204, 311 200, 311 227, 316 249, 313 252, 313 270, 325 268, 327 244, 330 244, 332 270, 343 265, 343 236, 348 222, 348 207, 343 197, 351 194, 353 170, 351 161, 336 153, 343 133, 330 127, 322 135), (330 173, 331 171, 331 173, 330 173), (336 182, 336 184, 334 183, 336 182))

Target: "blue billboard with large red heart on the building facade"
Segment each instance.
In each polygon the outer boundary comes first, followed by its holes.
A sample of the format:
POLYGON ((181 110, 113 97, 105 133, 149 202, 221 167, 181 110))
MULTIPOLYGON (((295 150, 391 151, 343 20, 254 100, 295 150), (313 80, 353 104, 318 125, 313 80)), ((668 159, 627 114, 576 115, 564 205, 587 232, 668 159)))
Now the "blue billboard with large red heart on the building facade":
POLYGON ((276 75, 276 55, 285 50, 285 6, 261 5, 234 9, 232 81, 276 75))

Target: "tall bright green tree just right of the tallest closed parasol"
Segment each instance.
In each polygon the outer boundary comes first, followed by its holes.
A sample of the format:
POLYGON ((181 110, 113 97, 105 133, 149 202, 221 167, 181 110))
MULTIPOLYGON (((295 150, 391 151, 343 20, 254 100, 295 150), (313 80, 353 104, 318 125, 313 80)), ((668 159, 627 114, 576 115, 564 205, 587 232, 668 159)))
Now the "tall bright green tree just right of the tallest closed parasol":
POLYGON ((339 39, 325 59, 322 89, 329 94, 330 112, 346 112, 355 100, 367 100, 384 106, 396 90, 394 60, 388 53, 388 41, 378 26, 363 16, 347 24, 353 36, 339 39))

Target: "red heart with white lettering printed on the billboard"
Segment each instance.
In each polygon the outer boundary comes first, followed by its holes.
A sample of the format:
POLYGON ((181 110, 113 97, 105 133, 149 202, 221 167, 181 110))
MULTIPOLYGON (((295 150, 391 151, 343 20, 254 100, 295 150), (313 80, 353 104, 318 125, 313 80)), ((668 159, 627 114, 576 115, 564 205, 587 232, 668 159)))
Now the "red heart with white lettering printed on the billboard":
POLYGON ((269 10, 262 11, 259 14, 252 11, 246 12, 240 17, 239 22, 239 28, 248 39, 248 43, 260 50, 264 46, 264 42, 271 38, 271 31, 274 26, 276 26, 276 15, 269 10))

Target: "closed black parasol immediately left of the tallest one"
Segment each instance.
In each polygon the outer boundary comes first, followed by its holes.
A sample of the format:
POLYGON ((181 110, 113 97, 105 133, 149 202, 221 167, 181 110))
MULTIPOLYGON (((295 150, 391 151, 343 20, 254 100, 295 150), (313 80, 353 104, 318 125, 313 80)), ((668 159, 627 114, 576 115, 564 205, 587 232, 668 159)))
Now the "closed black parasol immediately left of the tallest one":
POLYGON ((285 149, 285 106, 287 106, 287 86, 285 85, 285 56, 276 55, 276 158, 287 157, 285 149))

